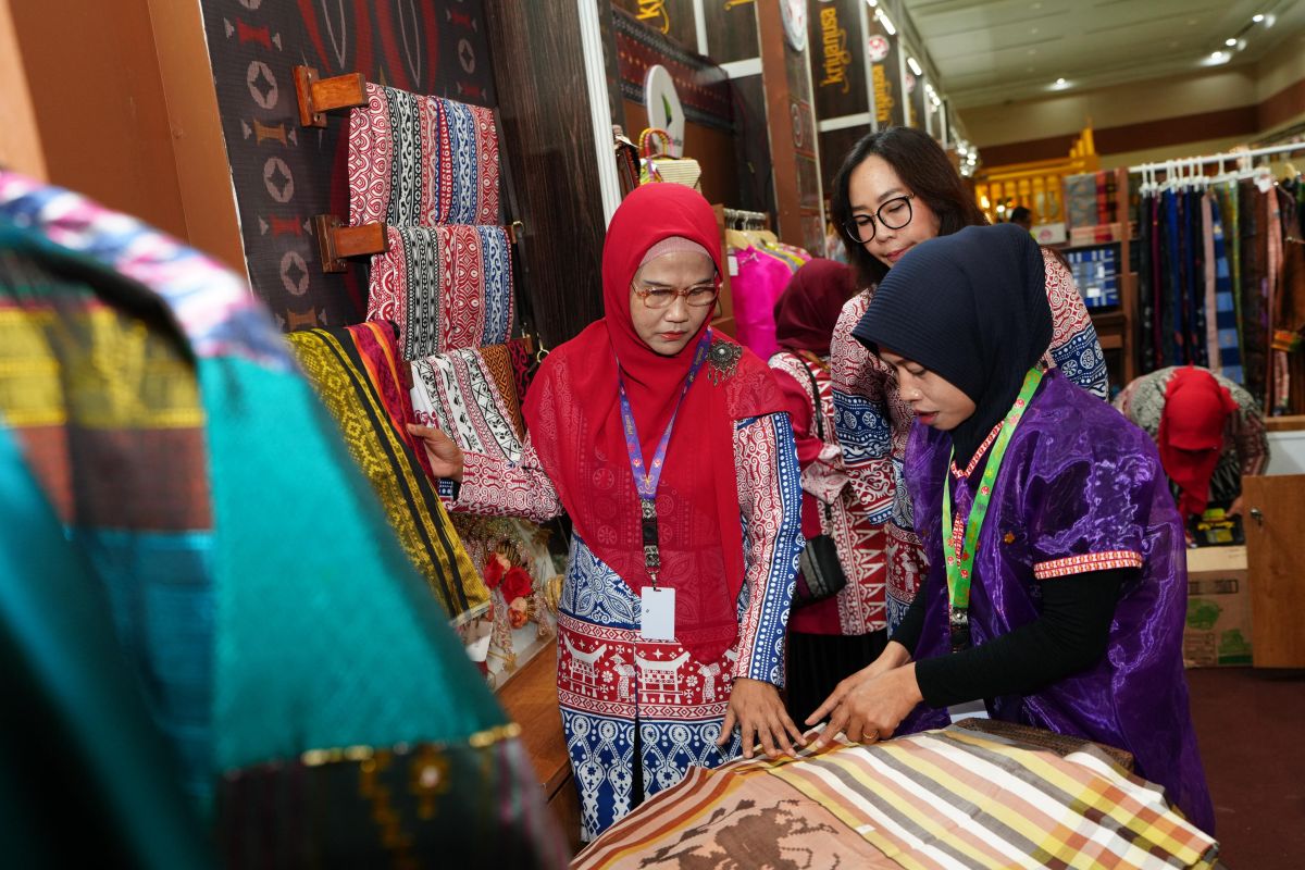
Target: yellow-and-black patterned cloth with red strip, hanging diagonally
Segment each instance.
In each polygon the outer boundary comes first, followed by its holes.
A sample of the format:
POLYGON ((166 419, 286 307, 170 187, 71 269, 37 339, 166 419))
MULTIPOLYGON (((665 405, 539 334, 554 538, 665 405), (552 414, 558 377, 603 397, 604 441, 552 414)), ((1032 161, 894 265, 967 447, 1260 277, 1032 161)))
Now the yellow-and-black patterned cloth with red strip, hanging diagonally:
POLYGON ((397 359, 389 323, 292 333, 295 355, 339 424, 354 460, 371 480, 399 543, 449 618, 480 614, 489 591, 449 524, 405 423, 407 367, 397 359))

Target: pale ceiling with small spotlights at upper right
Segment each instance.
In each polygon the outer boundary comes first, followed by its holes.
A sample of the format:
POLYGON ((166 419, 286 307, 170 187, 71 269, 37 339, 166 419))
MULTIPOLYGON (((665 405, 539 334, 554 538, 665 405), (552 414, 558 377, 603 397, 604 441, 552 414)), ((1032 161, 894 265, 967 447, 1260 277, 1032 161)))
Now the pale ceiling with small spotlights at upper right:
POLYGON ((1305 33, 1305 0, 900 1, 958 108, 1197 73, 1215 51, 1253 64, 1305 33))

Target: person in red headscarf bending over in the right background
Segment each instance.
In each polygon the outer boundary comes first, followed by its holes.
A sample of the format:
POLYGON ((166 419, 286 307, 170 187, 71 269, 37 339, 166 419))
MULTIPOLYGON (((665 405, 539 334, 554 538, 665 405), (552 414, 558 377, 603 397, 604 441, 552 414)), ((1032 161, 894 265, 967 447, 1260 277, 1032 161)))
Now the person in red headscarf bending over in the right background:
POLYGON ((1250 393, 1195 365, 1143 374, 1114 399, 1124 416, 1146 429, 1160 450, 1184 518, 1214 502, 1241 513, 1241 479, 1268 462, 1265 419, 1250 393))

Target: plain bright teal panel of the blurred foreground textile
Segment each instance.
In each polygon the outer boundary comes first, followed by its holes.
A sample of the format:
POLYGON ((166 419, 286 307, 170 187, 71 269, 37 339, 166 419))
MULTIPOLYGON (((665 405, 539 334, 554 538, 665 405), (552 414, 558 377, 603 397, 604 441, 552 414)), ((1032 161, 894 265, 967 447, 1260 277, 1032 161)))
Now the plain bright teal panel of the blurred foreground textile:
POLYGON ((210 420, 214 772, 506 721, 296 373, 201 360, 210 420))

